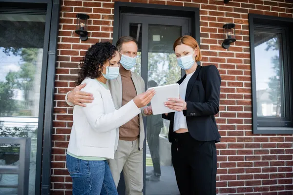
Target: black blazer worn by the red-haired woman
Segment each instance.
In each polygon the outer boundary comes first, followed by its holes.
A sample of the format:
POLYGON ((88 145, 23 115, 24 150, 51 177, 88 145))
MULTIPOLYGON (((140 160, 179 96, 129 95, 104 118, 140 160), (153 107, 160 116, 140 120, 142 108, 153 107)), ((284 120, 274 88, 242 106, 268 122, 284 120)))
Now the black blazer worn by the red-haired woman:
MULTIPOLYGON (((181 84, 186 75, 177 83, 181 84)), ((221 138, 214 115, 219 112, 221 77, 214 65, 197 66, 195 73, 188 81, 185 101, 186 117, 190 136, 198 141, 219 141, 221 138)), ((175 141, 173 132, 175 112, 163 118, 170 120, 169 142, 175 141)))

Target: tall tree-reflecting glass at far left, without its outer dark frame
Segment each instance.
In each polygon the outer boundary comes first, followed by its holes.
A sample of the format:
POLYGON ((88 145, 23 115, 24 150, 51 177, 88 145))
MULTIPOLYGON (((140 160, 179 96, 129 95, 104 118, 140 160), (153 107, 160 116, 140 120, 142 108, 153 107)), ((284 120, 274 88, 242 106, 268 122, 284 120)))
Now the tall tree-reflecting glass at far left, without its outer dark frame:
POLYGON ((0 195, 40 194, 41 83, 49 40, 45 39, 47 5, 35 5, 36 10, 0 12, 0 195), (18 140, 29 141, 22 145, 18 140))

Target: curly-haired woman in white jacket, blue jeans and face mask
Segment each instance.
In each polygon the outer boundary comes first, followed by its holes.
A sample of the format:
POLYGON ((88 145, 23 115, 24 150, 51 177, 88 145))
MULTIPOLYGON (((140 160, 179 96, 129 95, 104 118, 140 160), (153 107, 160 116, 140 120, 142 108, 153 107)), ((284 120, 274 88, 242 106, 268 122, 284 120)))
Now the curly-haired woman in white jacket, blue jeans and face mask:
POLYGON ((73 195, 118 195, 107 159, 114 158, 118 127, 141 113, 154 91, 137 95, 116 110, 107 88, 107 79, 119 74, 120 56, 109 42, 92 45, 85 54, 76 84, 93 94, 92 103, 73 109, 73 127, 66 156, 66 167, 72 178, 73 195))

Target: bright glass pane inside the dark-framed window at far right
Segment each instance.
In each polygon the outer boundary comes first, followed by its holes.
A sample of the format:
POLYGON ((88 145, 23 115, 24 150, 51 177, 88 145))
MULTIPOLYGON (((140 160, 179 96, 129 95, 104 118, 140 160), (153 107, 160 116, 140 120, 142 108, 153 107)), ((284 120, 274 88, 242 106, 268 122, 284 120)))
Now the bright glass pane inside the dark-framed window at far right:
POLYGON ((266 32, 254 34, 258 117, 286 117, 281 42, 280 34, 266 32))

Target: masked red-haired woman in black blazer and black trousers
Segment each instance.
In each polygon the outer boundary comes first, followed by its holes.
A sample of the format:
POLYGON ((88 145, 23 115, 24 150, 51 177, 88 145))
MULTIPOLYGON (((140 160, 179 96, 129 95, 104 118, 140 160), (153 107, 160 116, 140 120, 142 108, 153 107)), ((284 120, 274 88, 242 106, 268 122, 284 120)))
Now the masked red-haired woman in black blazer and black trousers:
POLYGON ((173 45, 178 65, 186 75, 179 83, 180 98, 165 105, 176 112, 163 114, 170 120, 172 163, 181 195, 215 195, 220 134, 214 115, 219 112, 221 77, 214 65, 199 66, 201 51, 190 36, 173 45))

